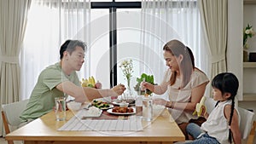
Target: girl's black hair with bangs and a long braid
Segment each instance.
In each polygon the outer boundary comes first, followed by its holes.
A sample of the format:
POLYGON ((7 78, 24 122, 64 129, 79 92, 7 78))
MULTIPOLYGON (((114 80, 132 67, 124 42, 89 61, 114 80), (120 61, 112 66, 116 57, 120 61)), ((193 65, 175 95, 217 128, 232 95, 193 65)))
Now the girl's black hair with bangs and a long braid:
MULTIPOLYGON (((224 93, 230 93, 230 97, 228 100, 232 100, 229 122, 229 125, 231 125, 235 108, 235 96, 239 87, 238 79, 233 73, 230 72, 219 73, 212 79, 212 87, 219 89, 222 95, 224 95, 224 93)), ((218 105, 218 103, 216 105, 218 105)), ((232 142, 231 130, 229 131, 229 141, 230 143, 232 142)))

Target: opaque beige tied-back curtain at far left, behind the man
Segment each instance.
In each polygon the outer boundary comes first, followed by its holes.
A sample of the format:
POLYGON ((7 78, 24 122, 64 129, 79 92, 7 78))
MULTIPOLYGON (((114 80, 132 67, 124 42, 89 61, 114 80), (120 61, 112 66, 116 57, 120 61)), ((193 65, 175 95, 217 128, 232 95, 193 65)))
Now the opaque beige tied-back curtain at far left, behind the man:
MULTIPOLYGON (((27 11, 31 0, 0 1, 0 107, 19 101, 20 49, 26 30, 27 11)), ((0 135, 2 135, 2 117, 0 135)))

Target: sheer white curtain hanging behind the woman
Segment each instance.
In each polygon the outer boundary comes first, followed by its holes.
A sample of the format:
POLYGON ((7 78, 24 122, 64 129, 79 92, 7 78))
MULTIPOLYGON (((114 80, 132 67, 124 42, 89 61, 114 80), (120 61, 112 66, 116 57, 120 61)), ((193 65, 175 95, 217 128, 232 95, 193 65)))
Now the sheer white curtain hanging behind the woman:
POLYGON ((145 62, 141 72, 153 73, 156 83, 161 83, 166 71, 163 46, 178 39, 192 49, 195 66, 208 75, 207 49, 201 35, 201 18, 196 0, 143 0, 142 3, 143 49, 145 62))

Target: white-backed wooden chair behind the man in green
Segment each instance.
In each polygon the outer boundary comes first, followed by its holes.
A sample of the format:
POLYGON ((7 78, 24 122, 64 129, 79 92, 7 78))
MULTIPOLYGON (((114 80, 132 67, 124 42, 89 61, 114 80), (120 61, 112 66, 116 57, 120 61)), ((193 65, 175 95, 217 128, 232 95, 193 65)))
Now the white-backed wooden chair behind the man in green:
MULTIPOLYGON (((6 135, 21 124, 20 113, 26 108, 27 102, 28 99, 2 105, 3 127, 6 135)), ((8 144, 14 144, 14 141, 8 141, 8 144)))

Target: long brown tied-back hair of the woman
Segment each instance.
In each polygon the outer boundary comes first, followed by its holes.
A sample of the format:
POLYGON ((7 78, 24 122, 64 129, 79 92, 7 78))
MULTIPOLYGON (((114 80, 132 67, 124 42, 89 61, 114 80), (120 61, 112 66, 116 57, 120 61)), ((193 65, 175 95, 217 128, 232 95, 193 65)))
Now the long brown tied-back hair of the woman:
MULTIPOLYGON (((180 41, 174 39, 166 43, 163 50, 169 51, 170 53, 172 53, 172 55, 176 57, 179 55, 183 55, 183 60, 179 65, 179 69, 182 73, 183 78, 181 88, 184 88, 189 83, 191 74, 193 72, 193 69, 195 68, 195 58, 191 49, 189 49, 189 47, 186 47, 180 41)), ((177 72, 173 72, 172 77, 170 78, 171 85, 175 84, 176 77, 177 72)))

